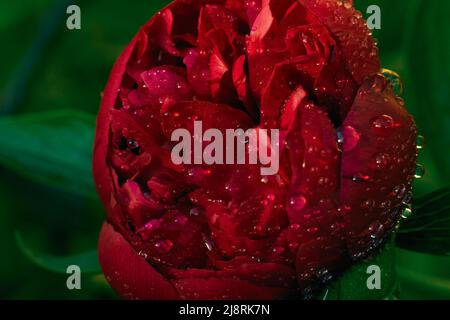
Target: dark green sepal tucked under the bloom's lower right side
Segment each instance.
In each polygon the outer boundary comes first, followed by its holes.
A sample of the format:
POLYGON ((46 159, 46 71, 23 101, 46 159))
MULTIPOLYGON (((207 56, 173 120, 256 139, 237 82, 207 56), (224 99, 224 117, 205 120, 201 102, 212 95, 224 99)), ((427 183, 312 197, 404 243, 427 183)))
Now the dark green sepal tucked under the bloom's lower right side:
POLYGON ((387 299, 396 288, 395 245, 390 240, 376 253, 345 272, 323 292, 323 300, 380 300, 387 299), (367 280, 372 275, 368 267, 378 266, 381 289, 370 290, 367 280))

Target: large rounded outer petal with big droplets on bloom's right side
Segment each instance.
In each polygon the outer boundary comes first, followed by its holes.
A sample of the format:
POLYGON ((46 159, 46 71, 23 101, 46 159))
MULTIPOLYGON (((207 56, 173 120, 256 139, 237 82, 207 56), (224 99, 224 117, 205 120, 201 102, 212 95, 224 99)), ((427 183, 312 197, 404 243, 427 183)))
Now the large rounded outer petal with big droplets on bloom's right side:
POLYGON ((392 230, 411 190, 416 163, 414 121, 386 79, 368 79, 344 122, 341 200, 354 255, 392 230), (359 241, 358 241, 359 240, 359 241))

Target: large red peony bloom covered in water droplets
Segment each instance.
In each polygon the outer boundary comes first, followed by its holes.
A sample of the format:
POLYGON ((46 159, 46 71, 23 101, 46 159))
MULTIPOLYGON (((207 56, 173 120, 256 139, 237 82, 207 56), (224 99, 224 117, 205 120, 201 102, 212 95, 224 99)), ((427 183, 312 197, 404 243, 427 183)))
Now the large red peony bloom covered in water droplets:
POLYGON ((103 271, 129 299, 280 299, 378 248, 416 128, 351 1, 177 0, 116 62, 97 123, 103 271), (280 130, 280 168, 176 165, 171 133, 280 130))

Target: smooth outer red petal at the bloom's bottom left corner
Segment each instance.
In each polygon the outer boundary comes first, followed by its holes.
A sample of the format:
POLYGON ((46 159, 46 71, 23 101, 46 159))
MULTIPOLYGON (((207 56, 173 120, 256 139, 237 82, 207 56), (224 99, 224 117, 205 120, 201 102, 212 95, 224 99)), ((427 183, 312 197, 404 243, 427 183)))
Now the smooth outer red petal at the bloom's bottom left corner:
POLYGON ((177 299, 169 281, 139 256, 108 223, 103 225, 98 244, 103 273, 111 286, 127 299, 177 299))

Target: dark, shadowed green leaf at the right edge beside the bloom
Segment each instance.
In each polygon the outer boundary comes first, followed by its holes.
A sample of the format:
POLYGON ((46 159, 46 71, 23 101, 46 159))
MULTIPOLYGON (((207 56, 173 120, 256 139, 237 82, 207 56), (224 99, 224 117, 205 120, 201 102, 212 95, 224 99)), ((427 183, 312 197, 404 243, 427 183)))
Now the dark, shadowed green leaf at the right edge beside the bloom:
POLYGON ((413 214, 402 221, 397 246, 436 255, 450 255, 450 188, 419 199, 413 214))

